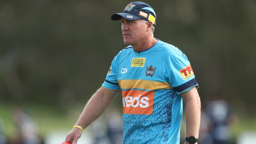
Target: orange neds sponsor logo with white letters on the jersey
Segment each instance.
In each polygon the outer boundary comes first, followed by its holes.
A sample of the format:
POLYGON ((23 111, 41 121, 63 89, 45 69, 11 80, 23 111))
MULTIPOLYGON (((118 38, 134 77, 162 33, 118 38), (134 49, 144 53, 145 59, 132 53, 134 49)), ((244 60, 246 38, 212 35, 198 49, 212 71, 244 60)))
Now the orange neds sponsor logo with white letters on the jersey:
POLYGON ((123 90, 122 104, 125 114, 152 114, 154 103, 154 90, 123 90))

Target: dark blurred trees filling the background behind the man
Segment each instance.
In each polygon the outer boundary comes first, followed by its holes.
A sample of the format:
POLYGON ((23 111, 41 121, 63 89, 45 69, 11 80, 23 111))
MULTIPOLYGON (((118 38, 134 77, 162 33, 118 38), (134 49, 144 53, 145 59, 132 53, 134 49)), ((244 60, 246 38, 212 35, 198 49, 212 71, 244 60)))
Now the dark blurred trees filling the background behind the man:
MULTIPOLYGON (((126 47, 110 19, 129 1, 0 2, 0 99, 56 103, 69 94, 85 102, 101 86, 113 57, 126 47), (68 91, 63 94, 63 91, 68 91)), ((203 104, 222 93, 253 109, 256 98, 256 2, 148 1, 155 37, 188 55, 203 104)))

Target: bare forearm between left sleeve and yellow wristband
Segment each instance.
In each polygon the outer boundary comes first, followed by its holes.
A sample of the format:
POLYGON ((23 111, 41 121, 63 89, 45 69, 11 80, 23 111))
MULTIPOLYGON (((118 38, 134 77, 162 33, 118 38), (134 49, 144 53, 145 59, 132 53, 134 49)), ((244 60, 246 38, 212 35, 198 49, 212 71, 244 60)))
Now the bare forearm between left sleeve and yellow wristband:
POLYGON ((76 125, 86 128, 96 120, 113 101, 119 91, 109 91, 103 87, 98 89, 85 105, 76 125))

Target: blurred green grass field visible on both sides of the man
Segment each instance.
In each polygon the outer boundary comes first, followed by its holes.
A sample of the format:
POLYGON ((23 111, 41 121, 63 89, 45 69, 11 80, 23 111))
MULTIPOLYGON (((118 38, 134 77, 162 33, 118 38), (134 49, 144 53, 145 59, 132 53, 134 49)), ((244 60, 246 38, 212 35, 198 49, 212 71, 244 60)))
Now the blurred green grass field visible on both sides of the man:
MULTIPOLYGON (((69 131, 76 123, 83 105, 76 107, 60 108, 56 105, 29 104, 22 105, 30 116, 37 122, 40 135, 44 137, 49 131, 56 129, 69 131)), ((13 106, 0 104, 0 118, 4 121, 4 135, 12 137, 16 128, 13 121, 13 106)), ((231 127, 232 137, 237 138, 244 131, 256 131, 256 118, 238 114, 239 122, 231 127)))

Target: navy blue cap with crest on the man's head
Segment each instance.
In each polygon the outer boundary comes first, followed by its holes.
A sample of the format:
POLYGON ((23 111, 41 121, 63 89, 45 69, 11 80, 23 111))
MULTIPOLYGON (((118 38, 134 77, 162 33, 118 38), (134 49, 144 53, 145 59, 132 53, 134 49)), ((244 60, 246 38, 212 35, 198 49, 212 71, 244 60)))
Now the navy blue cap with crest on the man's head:
POLYGON ((154 9, 144 2, 130 2, 122 13, 111 15, 112 20, 120 20, 121 17, 128 20, 138 20, 143 18, 147 21, 152 21, 153 26, 156 25, 156 13, 154 9))

